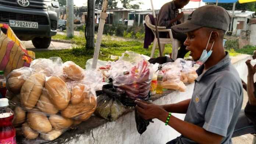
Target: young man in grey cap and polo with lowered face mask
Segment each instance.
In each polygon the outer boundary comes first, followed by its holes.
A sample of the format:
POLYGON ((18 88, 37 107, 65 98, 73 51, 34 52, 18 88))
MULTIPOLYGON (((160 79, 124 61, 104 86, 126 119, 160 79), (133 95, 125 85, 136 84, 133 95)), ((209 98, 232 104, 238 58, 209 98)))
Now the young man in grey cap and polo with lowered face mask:
POLYGON ((232 144, 231 136, 242 107, 243 91, 239 74, 223 47, 230 24, 228 12, 218 6, 197 8, 184 24, 174 26, 186 32, 186 49, 193 60, 204 63, 191 99, 169 105, 137 100, 136 109, 144 119, 157 118, 181 136, 167 144, 232 144), (186 114, 184 121, 171 113, 186 114))

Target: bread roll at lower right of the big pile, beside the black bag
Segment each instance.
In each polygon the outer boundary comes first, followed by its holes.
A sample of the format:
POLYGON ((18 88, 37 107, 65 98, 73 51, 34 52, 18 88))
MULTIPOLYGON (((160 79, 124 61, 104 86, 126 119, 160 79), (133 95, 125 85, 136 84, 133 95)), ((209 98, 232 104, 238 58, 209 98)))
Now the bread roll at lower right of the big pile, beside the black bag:
POLYGON ((69 104, 66 109, 61 111, 61 115, 65 118, 76 118, 85 121, 90 118, 97 107, 96 96, 89 94, 79 104, 69 104))

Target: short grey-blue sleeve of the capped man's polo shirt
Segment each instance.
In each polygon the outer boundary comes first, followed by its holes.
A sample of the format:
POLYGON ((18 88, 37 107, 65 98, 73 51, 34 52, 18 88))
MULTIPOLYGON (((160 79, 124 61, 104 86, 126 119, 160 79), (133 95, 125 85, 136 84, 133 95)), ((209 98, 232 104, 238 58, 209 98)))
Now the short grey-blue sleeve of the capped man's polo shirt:
POLYGON ((239 96, 230 89, 213 89, 206 108, 203 129, 226 137, 238 98, 239 96))

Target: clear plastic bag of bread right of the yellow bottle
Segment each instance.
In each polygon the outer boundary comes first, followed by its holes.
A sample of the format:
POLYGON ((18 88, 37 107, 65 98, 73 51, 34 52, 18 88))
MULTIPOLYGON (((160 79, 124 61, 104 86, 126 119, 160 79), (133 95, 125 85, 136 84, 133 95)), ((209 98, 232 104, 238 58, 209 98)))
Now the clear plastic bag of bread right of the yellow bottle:
POLYGON ((163 89, 186 91, 185 84, 181 81, 182 65, 175 62, 168 62, 162 65, 164 73, 163 89))

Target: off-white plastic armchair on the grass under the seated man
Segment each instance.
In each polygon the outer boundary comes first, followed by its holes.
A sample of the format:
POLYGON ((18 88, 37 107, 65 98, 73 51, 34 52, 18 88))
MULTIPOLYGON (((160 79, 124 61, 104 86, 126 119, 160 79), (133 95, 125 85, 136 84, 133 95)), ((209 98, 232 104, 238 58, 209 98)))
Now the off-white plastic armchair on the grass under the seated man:
MULTIPOLYGON (((152 22, 148 15, 145 17, 145 23, 146 23, 147 27, 149 27, 152 30, 152 32, 154 33, 153 47, 152 47, 152 51, 151 51, 151 55, 150 55, 150 58, 153 58, 154 51, 156 50, 156 44, 157 44, 156 26, 152 25, 152 22)), ((173 48, 172 48, 171 57, 175 61, 177 59, 178 48, 181 46, 181 43, 179 42, 179 40, 173 38, 171 29, 166 29, 165 26, 157 26, 157 29, 159 32, 169 32, 170 38, 160 38, 159 39, 160 45, 161 45, 161 51, 162 51, 162 53, 164 53, 165 45, 172 44, 173 48)))

